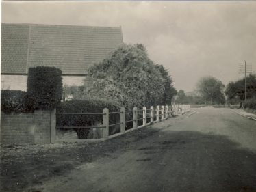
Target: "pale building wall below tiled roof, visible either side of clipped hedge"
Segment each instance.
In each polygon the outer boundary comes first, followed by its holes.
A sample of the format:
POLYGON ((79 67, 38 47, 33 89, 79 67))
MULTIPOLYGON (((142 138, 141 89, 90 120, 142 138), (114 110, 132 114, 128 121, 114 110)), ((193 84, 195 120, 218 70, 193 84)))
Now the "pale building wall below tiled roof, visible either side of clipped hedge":
MULTIPOLYGON (((63 85, 83 85, 85 77, 64 76, 63 85)), ((27 75, 1 75, 1 90, 27 90, 27 75)))

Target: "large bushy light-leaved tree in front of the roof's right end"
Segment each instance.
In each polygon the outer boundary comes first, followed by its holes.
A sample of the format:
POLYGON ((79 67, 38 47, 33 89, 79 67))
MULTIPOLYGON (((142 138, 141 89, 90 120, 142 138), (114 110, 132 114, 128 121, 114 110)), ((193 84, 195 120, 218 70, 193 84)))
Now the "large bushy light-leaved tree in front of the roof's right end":
POLYGON ((149 59, 142 44, 123 44, 89 69, 78 99, 112 100, 131 109, 170 104, 174 94, 170 74, 149 59))

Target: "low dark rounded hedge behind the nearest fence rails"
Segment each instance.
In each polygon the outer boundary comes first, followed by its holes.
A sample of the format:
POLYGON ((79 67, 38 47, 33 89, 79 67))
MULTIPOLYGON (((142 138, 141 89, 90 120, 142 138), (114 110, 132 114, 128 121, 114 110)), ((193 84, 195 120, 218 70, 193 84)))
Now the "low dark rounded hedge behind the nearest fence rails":
MULTIPOLYGON (((110 112, 120 111, 113 102, 102 100, 70 100, 57 107, 57 113, 102 113, 104 108, 110 112)), ((110 115, 110 124, 120 122, 120 114, 110 115)), ((103 123, 103 115, 57 115, 57 126, 97 126, 103 123)), ((90 129, 75 128, 79 139, 87 139, 90 129)), ((110 127, 110 134, 114 131, 110 127)))

